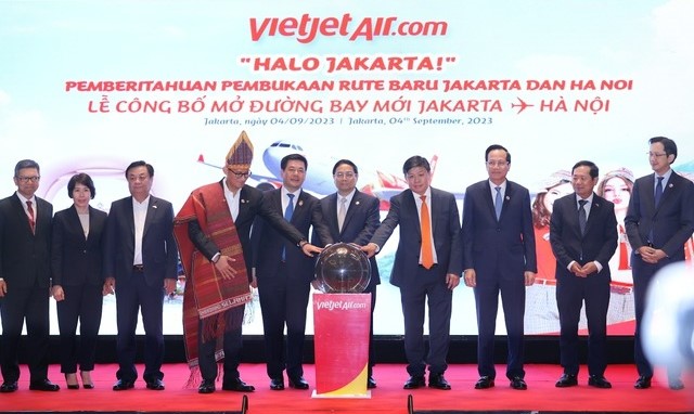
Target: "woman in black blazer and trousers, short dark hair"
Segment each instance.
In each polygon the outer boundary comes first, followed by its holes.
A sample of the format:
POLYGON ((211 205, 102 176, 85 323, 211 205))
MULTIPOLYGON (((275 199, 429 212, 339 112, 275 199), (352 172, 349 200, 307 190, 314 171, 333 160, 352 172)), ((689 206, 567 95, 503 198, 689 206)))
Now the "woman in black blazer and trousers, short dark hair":
POLYGON ((103 306, 103 241, 106 214, 89 205, 97 195, 94 183, 86 173, 78 173, 67 183, 72 207, 53 217, 51 267, 53 298, 57 303, 61 333, 61 372, 67 388, 78 389, 77 364, 82 386, 93 388, 97 337, 103 306), (80 341, 77 341, 77 321, 80 341))

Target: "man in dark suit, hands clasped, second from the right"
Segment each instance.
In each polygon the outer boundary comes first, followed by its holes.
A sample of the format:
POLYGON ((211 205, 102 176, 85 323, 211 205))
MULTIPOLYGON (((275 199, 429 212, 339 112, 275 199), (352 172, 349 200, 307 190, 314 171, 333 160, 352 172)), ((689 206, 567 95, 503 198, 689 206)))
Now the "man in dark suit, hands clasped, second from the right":
POLYGON ((554 202, 550 243, 556 258, 556 305, 564 374, 556 387, 578 385, 578 322, 586 301, 588 319, 588 385, 612 388, 607 366, 609 259, 617 249, 615 205, 593 193, 597 166, 578 161, 571 169, 574 194, 554 202))

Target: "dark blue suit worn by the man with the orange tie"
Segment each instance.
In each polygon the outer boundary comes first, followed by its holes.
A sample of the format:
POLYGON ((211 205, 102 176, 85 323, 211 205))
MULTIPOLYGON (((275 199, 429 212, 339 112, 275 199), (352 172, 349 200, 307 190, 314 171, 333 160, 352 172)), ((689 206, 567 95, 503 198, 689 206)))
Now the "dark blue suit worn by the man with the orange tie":
POLYGON ((404 319, 404 353, 408 373, 423 376, 426 363, 430 375, 440 375, 448 367, 448 354, 452 290, 446 285, 446 275, 460 275, 462 248, 460 245, 460 219, 455 197, 448 192, 430 189, 432 232, 437 264, 427 270, 421 267, 422 233, 420 215, 411 190, 390 198, 388 215, 376 230, 370 243, 383 248, 396 227, 400 240, 393 264, 390 283, 400 288, 404 319), (425 355, 424 314, 425 302, 429 309, 429 352, 425 355))

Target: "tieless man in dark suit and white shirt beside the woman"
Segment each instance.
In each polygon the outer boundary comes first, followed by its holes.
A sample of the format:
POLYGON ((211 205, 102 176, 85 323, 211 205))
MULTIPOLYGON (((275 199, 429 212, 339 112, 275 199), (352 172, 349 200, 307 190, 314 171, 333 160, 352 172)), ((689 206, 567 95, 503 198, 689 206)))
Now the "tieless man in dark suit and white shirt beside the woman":
POLYGON ((118 380, 114 391, 134 387, 136 328, 142 312, 147 389, 163 390, 164 296, 176 289, 178 248, 171 203, 150 194, 154 167, 134 161, 126 169, 130 197, 113 202, 106 221, 104 290, 116 292, 118 380))

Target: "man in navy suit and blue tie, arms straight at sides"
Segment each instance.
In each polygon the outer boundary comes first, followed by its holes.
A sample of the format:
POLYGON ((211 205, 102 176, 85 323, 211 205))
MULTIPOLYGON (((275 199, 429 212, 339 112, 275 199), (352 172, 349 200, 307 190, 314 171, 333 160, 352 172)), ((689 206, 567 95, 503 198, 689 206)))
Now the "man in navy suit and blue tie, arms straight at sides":
POLYGON ((506 377, 514 389, 527 389, 523 370, 525 286, 535 282, 537 259, 528 190, 506 180, 511 154, 501 145, 485 152, 489 179, 465 190, 463 246, 465 285, 474 287, 477 307, 476 389, 494 386, 494 332, 499 293, 506 323, 506 377))

